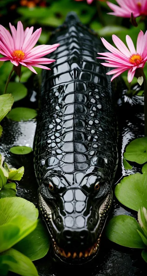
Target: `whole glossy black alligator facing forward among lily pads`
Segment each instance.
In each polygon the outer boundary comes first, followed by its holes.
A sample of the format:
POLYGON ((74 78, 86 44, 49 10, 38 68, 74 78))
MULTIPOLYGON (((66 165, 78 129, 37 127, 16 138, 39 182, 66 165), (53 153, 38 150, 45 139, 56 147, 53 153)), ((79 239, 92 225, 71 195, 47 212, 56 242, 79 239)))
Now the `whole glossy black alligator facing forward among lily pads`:
POLYGON ((69 264, 92 260, 112 205, 118 163, 115 92, 96 59, 100 38, 74 13, 50 44, 51 71, 43 70, 34 142, 38 205, 54 256, 69 264))

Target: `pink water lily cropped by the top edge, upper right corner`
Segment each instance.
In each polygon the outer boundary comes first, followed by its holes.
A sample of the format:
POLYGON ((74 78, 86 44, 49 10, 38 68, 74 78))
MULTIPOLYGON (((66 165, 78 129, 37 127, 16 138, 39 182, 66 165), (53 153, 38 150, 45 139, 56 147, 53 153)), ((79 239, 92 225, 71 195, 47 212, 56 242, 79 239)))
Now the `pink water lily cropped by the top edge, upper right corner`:
POLYGON ((132 12, 134 17, 147 16, 147 0, 116 0, 116 2, 119 6, 107 1, 107 5, 114 11, 109 14, 130 18, 132 12))

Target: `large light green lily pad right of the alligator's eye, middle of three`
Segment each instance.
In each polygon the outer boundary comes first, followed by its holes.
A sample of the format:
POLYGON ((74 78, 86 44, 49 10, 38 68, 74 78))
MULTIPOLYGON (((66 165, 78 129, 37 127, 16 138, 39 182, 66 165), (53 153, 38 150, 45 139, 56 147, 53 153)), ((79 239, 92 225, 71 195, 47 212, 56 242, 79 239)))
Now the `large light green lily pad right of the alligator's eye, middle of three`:
POLYGON ((124 177, 116 185, 117 199, 132 210, 138 211, 140 206, 147 208, 147 174, 131 174, 124 177))

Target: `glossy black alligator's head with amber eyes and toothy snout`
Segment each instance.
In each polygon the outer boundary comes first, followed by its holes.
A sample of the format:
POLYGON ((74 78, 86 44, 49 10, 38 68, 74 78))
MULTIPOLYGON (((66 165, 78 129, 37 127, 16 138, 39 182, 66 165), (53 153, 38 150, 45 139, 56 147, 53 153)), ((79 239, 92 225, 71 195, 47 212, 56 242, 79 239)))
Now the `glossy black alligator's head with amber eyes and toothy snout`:
POLYGON ((39 208, 56 257, 83 263, 99 251, 112 190, 99 173, 68 176, 46 173, 39 188, 39 208))

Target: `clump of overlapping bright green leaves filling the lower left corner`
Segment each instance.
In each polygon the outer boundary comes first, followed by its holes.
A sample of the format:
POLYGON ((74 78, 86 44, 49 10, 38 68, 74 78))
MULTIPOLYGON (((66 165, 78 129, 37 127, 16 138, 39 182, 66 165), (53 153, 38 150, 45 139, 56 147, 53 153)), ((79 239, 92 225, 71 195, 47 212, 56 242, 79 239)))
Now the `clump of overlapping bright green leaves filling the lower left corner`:
POLYGON ((16 197, 24 167, 9 168, 0 155, 0 271, 38 275, 32 260, 47 254, 49 240, 33 203, 16 197))

